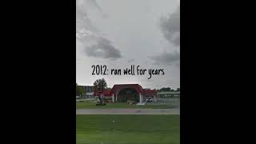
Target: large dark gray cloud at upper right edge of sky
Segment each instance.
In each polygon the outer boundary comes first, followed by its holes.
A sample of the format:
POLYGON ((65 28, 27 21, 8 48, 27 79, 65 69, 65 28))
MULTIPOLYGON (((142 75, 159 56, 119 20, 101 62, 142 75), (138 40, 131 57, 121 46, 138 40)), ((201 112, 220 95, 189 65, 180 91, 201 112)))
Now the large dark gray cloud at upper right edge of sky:
POLYGON ((169 17, 160 19, 160 26, 165 38, 176 46, 180 45, 180 8, 169 17))

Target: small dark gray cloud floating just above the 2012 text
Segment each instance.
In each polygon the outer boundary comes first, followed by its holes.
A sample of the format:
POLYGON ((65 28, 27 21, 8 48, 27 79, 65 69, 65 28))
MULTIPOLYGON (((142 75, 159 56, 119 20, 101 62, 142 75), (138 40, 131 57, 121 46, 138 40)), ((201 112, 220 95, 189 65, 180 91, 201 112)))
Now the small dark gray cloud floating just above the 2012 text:
POLYGON ((106 38, 98 38, 96 45, 86 47, 86 55, 95 58, 110 58, 110 60, 122 57, 120 51, 106 38))

